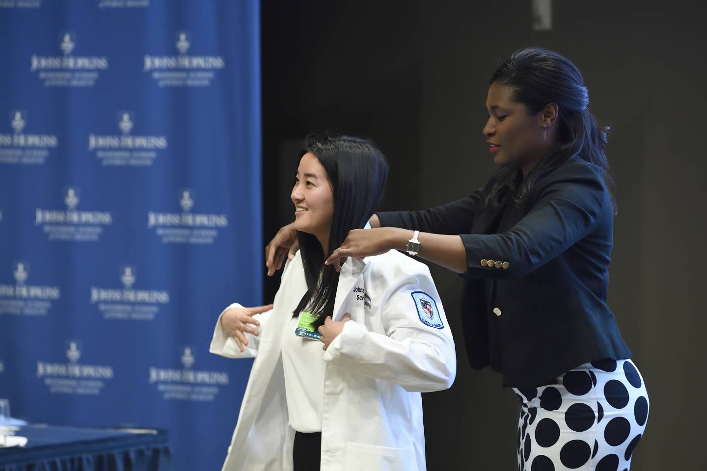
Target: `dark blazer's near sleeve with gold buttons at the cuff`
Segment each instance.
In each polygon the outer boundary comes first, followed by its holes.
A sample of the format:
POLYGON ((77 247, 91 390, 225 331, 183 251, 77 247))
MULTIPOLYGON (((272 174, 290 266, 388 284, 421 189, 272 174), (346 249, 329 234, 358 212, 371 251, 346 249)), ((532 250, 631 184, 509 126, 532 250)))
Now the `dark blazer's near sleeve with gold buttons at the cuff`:
POLYGON ((465 275, 522 278, 590 234, 601 220, 607 189, 587 165, 575 169, 580 170, 547 177, 532 209, 507 232, 460 234, 467 254, 465 275), (482 266, 482 260, 508 268, 482 266))

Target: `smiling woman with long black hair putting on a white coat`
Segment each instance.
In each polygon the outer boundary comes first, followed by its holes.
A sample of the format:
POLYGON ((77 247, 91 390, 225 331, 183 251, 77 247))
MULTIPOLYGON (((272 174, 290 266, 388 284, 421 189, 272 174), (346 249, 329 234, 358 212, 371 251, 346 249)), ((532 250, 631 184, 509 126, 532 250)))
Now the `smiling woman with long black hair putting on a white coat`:
POLYGON ((397 251, 324 265, 386 177, 362 139, 305 145, 291 194, 300 251, 274 304, 232 304, 214 330, 211 352, 255 357, 223 470, 426 469, 420 393, 456 374, 429 270, 397 251))

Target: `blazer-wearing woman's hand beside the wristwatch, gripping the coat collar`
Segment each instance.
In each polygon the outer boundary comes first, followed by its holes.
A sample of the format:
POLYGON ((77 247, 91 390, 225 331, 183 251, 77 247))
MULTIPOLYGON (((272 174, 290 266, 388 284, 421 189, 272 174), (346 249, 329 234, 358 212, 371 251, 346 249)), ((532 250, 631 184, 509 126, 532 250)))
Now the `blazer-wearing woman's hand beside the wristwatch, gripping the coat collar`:
POLYGON ((344 239, 344 243, 332 252, 327 258, 325 265, 334 263, 337 271, 341 271, 341 262, 346 257, 363 258, 385 254, 390 249, 403 250, 406 234, 412 237, 412 231, 399 229, 398 227, 378 227, 376 229, 353 229, 344 239))

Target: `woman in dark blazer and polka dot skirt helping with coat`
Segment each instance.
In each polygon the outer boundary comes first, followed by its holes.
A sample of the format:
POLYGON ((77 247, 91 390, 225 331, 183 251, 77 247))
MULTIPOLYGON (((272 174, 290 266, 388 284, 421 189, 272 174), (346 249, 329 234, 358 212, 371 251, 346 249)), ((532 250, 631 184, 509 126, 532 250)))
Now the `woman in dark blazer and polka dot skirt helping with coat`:
MULTIPOLYGON (((520 470, 628 470, 648 394, 607 302, 616 213, 606 129, 568 59, 521 49, 491 78, 484 126, 501 167, 438 208, 378 213, 327 263, 407 250, 464 277, 469 362, 503 375, 522 405, 520 470), (418 243, 419 242, 419 243, 418 243)), ((291 245, 284 227, 269 273, 291 245)))

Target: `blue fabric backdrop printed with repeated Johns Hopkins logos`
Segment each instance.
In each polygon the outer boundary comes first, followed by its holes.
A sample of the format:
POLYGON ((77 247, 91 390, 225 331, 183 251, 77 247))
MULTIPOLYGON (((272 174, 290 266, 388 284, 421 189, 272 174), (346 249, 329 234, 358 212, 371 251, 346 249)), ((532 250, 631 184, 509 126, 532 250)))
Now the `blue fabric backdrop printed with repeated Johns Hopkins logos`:
POLYGON ((0 0, 0 398, 219 469, 262 302, 256 0, 0 0))

